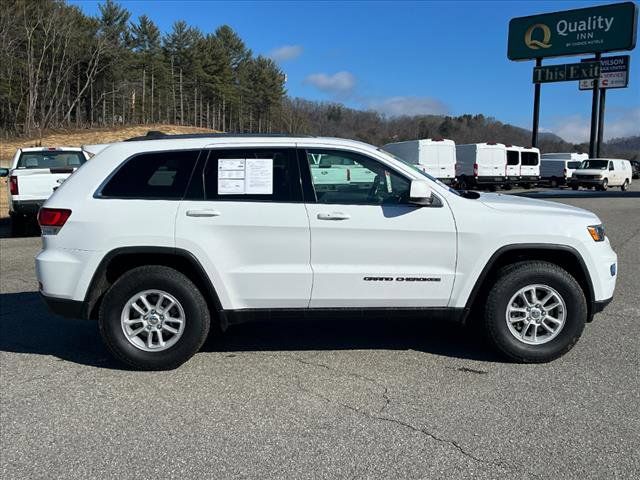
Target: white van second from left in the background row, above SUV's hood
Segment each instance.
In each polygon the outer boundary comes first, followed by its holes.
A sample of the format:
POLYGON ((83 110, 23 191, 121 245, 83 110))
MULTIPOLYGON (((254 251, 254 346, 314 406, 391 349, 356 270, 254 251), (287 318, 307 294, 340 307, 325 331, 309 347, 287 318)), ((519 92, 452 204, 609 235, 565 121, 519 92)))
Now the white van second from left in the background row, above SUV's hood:
POLYGON ((470 143, 456 146, 456 179, 460 189, 503 185, 507 147, 502 143, 470 143))

